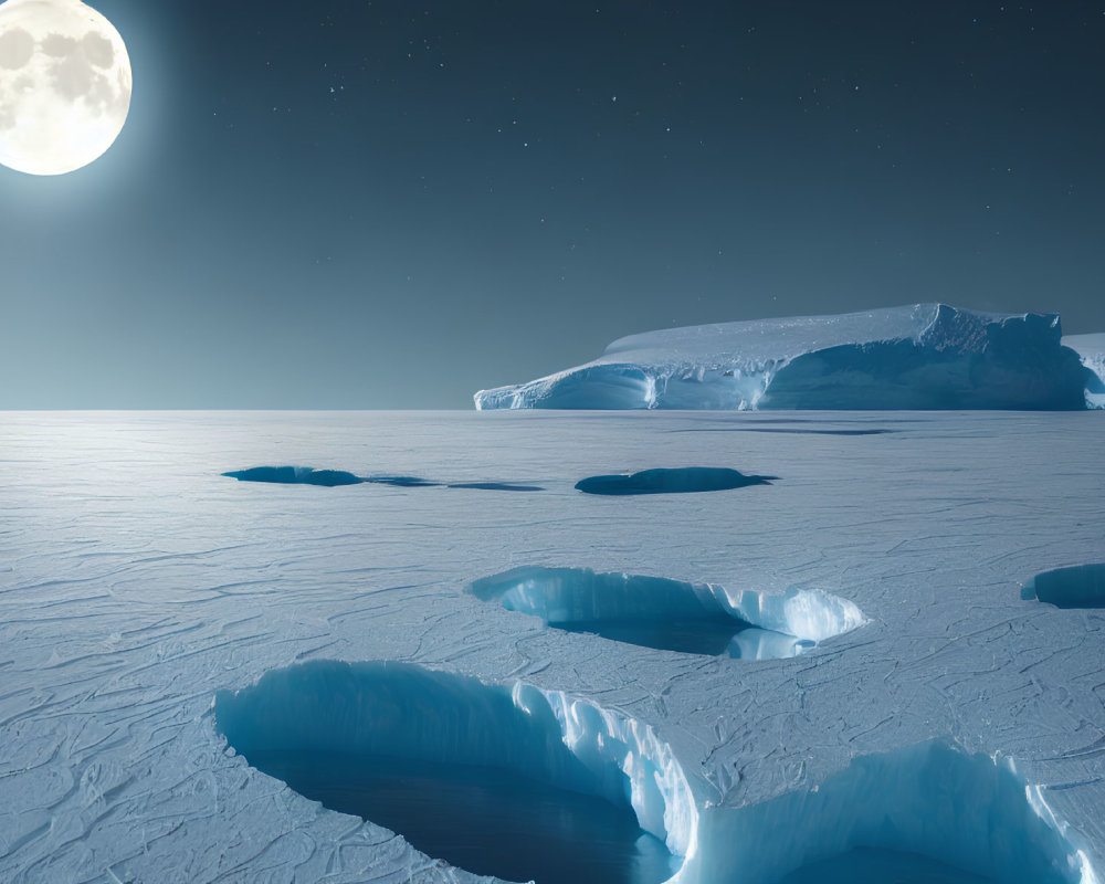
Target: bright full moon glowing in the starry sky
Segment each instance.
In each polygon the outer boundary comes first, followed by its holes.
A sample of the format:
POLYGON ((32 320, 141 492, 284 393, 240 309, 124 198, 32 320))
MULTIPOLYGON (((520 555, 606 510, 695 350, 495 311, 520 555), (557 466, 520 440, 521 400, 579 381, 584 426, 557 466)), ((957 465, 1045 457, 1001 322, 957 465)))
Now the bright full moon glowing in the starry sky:
POLYGON ((0 4, 0 162, 30 175, 87 166, 130 109, 130 59, 80 0, 0 4))

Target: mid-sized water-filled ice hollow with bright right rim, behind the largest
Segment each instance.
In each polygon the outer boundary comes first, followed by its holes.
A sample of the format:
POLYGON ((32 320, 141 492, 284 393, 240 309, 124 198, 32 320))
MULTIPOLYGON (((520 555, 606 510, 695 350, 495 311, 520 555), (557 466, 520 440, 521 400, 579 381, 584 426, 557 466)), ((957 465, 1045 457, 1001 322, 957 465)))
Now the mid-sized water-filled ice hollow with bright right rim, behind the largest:
POLYGON ((863 624, 852 602, 817 590, 769 594, 588 568, 515 568, 476 580, 472 593, 558 629, 744 660, 794 656, 863 624))

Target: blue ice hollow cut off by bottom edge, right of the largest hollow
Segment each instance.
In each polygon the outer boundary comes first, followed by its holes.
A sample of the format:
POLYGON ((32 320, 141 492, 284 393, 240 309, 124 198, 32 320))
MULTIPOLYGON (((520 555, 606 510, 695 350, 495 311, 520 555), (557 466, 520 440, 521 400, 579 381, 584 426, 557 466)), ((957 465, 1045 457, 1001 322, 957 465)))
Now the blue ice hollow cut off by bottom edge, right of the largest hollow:
POLYGON ((950 743, 860 756, 813 788, 707 808, 678 881, 1097 884, 1043 794, 1011 758, 950 743))

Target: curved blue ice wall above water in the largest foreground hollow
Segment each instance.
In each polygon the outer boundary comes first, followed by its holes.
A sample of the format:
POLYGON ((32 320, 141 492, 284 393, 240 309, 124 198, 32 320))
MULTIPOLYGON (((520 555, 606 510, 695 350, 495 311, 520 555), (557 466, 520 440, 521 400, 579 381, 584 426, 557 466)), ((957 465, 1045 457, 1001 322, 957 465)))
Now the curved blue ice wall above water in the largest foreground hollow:
POLYGON ((414 769, 503 771, 603 799, 632 810, 666 845, 664 877, 693 846, 697 806, 667 744, 639 720, 560 692, 407 663, 311 661, 220 692, 214 716, 251 764, 297 757, 325 777, 335 757, 390 758, 414 769))

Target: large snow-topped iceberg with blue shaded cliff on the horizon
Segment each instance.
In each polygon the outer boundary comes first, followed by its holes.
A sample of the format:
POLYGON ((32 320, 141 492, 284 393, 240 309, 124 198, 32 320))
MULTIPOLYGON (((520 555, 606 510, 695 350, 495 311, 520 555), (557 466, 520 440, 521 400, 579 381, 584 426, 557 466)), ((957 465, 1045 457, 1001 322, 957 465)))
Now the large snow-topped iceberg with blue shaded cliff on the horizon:
POLYGON ((481 390, 475 406, 1082 410, 1102 367, 1061 337, 1057 314, 946 304, 688 326, 620 338, 586 365, 481 390))

